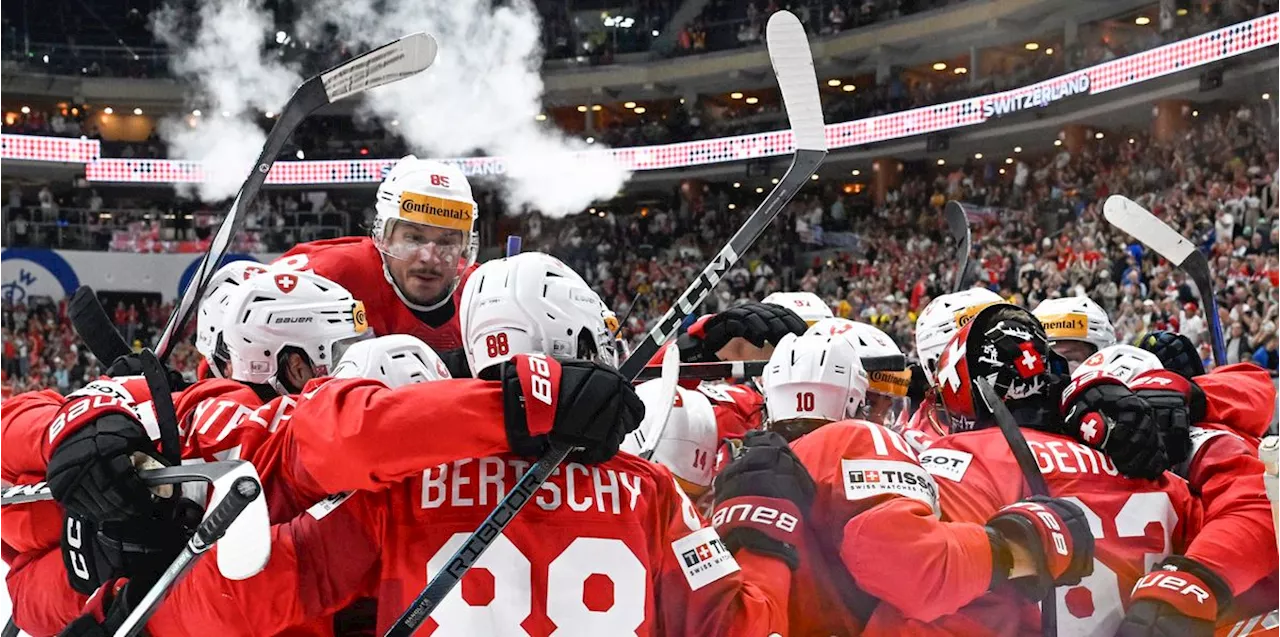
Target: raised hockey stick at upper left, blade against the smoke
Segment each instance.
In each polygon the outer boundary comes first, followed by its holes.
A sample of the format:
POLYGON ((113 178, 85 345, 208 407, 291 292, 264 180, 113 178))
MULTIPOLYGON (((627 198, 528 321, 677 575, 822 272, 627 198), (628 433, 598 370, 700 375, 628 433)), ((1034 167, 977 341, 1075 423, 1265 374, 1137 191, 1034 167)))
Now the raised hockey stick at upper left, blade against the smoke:
POLYGON ((289 141, 289 136, 298 128, 298 124, 321 106, 426 69, 435 61, 435 38, 431 36, 426 33, 404 36, 307 79, 293 92, 289 102, 280 111, 279 119, 271 127, 271 132, 266 136, 266 143, 262 145, 262 153, 253 164, 253 171, 241 185, 230 211, 218 225, 218 233, 209 243, 209 252, 200 261, 200 267, 173 308, 164 333, 160 334, 160 340, 156 343, 156 354, 160 361, 168 361, 169 354, 173 353, 177 339, 182 336, 183 326, 187 325, 196 310, 196 303, 205 295, 209 281, 212 280, 214 272, 221 265, 223 257, 227 256, 232 237, 239 233, 241 226, 244 225, 244 208, 262 189, 262 183, 266 180, 268 173, 271 171, 271 165, 275 164, 275 157, 284 148, 284 143, 289 141))

